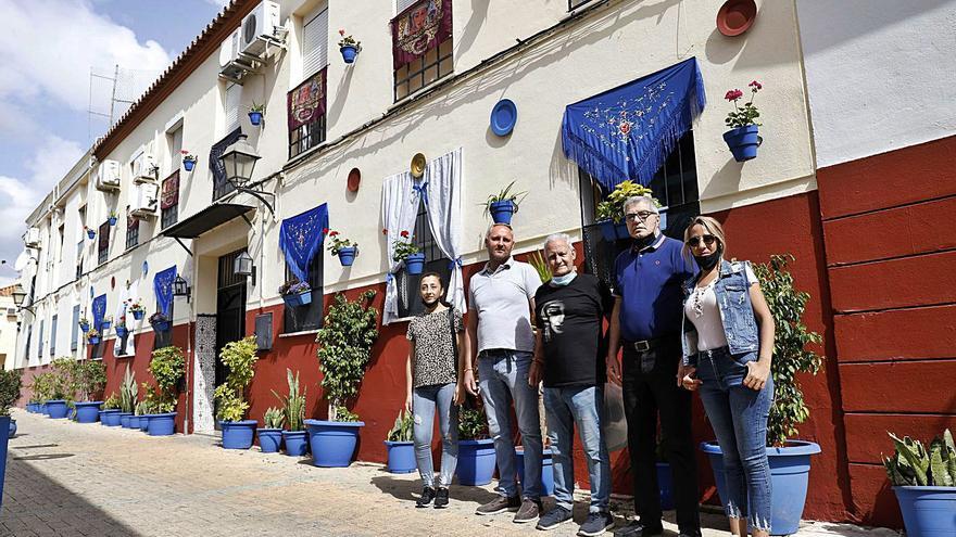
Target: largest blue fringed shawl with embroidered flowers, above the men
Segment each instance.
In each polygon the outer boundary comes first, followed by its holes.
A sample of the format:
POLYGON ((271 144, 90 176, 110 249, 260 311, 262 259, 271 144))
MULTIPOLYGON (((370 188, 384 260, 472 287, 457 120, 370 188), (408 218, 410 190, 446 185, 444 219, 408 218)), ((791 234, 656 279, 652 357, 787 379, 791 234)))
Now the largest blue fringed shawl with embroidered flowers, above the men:
POLYGON ((605 191, 631 179, 647 186, 704 110, 704 80, 693 57, 569 104, 564 154, 605 191))

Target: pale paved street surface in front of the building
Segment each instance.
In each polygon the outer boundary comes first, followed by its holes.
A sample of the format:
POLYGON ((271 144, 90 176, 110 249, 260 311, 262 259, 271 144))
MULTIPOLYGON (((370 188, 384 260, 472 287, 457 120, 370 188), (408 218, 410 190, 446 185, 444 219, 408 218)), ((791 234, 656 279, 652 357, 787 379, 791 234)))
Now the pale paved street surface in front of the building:
MULTIPOLYGON (((508 515, 477 516, 489 487, 452 487, 449 509, 415 509, 415 474, 379 464, 318 469, 309 459, 225 450, 216 438, 142 433, 14 410, 0 535, 11 536, 536 536, 508 515)), ((546 503, 545 508, 551 503, 546 503)), ((626 514, 626 513, 625 513, 626 514)), ((668 513, 674 536, 674 513, 668 513)), ((578 502, 575 517, 587 515, 578 502)), ((618 517, 618 525, 625 524, 618 517)), ((705 536, 728 535, 705 514, 705 536)), ((800 537, 895 536, 888 529, 807 523, 800 537)))

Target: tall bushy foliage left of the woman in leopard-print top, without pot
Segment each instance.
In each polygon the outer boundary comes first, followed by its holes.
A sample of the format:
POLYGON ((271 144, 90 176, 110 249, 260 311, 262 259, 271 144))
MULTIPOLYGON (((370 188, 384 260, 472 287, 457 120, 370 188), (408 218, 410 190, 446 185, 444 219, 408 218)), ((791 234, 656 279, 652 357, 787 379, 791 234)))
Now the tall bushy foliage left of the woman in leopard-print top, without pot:
POLYGON ((341 419, 340 414, 347 401, 358 393, 372 346, 378 338, 378 310, 372 307, 374 297, 372 290, 358 295, 356 301, 337 294, 316 337, 318 367, 323 373, 320 386, 329 401, 331 421, 357 421, 341 419))

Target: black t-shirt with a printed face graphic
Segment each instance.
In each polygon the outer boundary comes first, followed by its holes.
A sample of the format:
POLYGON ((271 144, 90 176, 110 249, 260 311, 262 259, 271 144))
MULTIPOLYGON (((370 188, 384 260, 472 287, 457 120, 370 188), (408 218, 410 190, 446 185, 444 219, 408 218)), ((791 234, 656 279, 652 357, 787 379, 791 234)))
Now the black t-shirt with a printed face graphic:
POLYGON ((544 343, 546 387, 604 383, 602 327, 613 305, 611 291, 592 274, 578 274, 567 285, 538 287, 534 317, 544 343))

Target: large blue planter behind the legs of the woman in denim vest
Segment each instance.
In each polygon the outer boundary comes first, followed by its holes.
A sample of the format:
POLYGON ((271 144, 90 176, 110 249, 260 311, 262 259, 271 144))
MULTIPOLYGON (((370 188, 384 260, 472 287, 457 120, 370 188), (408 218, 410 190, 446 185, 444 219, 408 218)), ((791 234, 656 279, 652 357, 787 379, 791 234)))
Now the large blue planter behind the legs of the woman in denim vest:
MULTIPOLYGON (((716 442, 701 444, 707 453, 717 493, 727 497, 724 482, 724 455, 716 442)), ((810 456, 820 452, 820 446, 813 442, 787 440, 782 448, 767 448, 770 463, 770 535, 792 535, 800 528, 800 517, 806 503, 807 482, 810 473, 810 456)))

